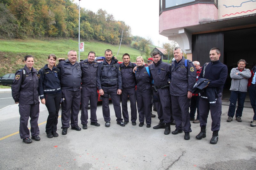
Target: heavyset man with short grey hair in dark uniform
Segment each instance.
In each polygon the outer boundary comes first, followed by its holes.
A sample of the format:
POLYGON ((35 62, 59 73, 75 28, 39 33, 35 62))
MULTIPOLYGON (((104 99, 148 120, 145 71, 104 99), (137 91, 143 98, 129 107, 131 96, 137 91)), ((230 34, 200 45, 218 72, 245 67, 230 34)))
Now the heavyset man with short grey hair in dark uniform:
POLYGON ((81 77, 82 70, 77 60, 77 53, 74 50, 68 52, 68 59, 60 61, 57 67, 60 69, 60 85, 62 97, 61 123, 62 135, 66 135, 69 128, 81 131, 78 126, 78 113, 81 102, 81 77))

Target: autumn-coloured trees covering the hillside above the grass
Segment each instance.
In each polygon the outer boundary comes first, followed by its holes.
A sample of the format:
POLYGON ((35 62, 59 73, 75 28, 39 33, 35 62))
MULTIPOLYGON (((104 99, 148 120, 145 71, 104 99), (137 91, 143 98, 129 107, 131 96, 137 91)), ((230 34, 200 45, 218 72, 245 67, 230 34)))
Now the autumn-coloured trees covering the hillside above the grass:
MULTIPOLYGON (((78 38, 78 5, 73 0, 0 0, 0 38, 78 38)), ((80 38, 110 44, 132 42, 131 28, 112 14, 80 8, 80 38)))

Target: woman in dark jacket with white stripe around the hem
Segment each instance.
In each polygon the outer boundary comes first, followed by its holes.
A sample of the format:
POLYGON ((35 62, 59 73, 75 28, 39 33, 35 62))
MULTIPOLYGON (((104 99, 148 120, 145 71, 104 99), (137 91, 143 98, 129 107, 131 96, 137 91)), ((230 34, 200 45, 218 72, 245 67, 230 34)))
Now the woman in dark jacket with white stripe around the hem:
POLYGON ((57 131, 61 89, 60 89, 60 70, 55 66, 57 57, 54 54, 48 56, 48 64, 39 70, 38 92, 41 103, 45 104, 49 116, 46 122, 46 135, 48 138, 58 137, 57 131))

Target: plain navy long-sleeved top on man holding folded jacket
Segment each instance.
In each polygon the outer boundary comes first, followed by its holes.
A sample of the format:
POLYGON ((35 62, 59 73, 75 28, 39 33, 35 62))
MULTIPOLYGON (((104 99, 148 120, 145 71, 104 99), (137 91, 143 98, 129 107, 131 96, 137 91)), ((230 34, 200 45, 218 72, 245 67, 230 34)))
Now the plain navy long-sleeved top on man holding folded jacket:
MULTIPOLYGON (((202 70, 205 71, 205 79, 211 80, 208 87, 215 87, 217 93, 221 93, 223 90, 223 85, 228 76, 228 67, 221 63, 220 60, 210 62, 208 65, 204 65, 202 70), (204 69, 204 67, 206 67, 204 69)), ((201 71, 198 80, 203 78, 204 71, 201 71)))

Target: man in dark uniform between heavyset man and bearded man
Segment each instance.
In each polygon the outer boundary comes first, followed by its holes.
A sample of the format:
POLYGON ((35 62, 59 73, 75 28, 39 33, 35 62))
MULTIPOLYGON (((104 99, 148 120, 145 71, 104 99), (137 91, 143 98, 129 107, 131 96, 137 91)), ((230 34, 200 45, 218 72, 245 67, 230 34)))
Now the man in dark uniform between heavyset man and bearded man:
POLYGON ((89 100, 91 105, 91 125, 100 126, 96 116, 98 103, 98 88, 96 82, 98 62, 95 60, 95 52, 89 52, 88 59, 81 61, 80 66, 82 69, 81 124, 83 125, 83 129, 87 129, 89 100))

